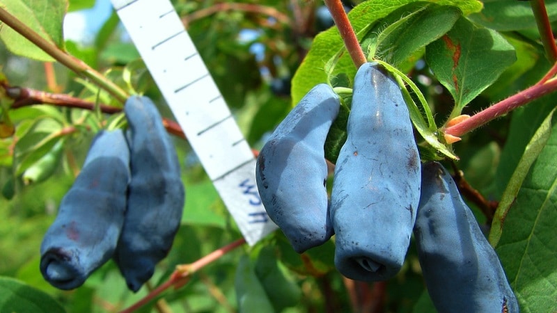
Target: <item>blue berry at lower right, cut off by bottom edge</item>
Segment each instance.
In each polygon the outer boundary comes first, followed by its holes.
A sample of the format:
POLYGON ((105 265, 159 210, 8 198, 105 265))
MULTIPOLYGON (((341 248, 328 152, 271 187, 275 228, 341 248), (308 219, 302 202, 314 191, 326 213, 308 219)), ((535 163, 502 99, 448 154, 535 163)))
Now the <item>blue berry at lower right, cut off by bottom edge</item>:
POLYGON ((519 312, 495 250, 440 163, 425 163, 414 236, 439 312, 519 312))

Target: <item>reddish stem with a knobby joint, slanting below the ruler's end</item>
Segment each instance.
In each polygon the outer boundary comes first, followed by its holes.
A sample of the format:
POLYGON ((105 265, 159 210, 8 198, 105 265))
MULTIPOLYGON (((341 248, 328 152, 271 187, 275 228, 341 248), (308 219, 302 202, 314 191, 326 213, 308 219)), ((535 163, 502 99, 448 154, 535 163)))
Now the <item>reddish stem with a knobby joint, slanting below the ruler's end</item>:
POLYGON ((195 273, 196 271, 199 271, 201 268, 207 266, 208 264, 211 264, 212 262, 216 261, 223 255, 226 255, 226 253, 234 250, 235 248, 242 246, 244 243, 246 243, 246 239, 244 238, 238 239, 236 241, 233 241, 232 243, 229 243, 226 246, 223 246, 222 248, 219 248, 218 250, 214 250, 208 255, 205 255, 205 257, 198 259, 194 263, 176 266, 176 270, 174 271, 174 273, 172 273, 172 275, 166 282, 164 282, 159 287, 150 291, 150 293, 147 296, 141 298, 141 300, 134 303, 134 305, 128 307, 125 310, 120 311, 120 313, 134 312, 140 307, 143 307, 143 305, 149 303, 152 299, 162 294, 164 291, 166 291, 166 289, 170 287, 182 287, 185 284, 185 282, 189 280, 191 274, 195 273))

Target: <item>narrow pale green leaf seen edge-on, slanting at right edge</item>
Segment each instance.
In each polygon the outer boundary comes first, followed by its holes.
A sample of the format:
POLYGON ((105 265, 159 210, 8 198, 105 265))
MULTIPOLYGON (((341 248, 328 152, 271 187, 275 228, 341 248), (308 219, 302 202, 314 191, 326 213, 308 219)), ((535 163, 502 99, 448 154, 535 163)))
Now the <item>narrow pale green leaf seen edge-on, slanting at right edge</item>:
POLYGON ((530 170, 530 167, 534 163, 535 159, 538 158, 538 155, 549 140, 549 136, 551 135, 551 120, 554 112, 555 109, 551 110, 549 115, 547 115, 547 118, 545 118, 542 122, 542 125, 537 131, 535 131, 534 136, 532 136, 530 142, 526 145, 524 154, 522 154, 522 157, 515 168, 515 172, 512 173, 512 177, 510 177, 507 188, 505 188, 505 192, 503 193, 501 201, 495 211, 492 228, 489 232, 489 243, 491 243, 494 247, 497 246, 499 239, 501 239, 505 216, 507 216, 512 204, 514 204, 515 200, 517 200, 517 194, 524 182, 526 174, 528 174, 528 170, 530 170))

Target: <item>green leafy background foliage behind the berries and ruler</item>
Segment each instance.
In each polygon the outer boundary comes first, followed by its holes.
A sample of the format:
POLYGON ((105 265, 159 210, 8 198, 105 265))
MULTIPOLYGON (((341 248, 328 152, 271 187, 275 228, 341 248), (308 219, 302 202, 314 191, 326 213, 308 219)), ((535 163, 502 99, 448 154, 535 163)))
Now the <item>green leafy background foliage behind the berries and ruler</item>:
MULTIPOLYGON (((464 198, 490 230, 490 242, 521 309, 553 312, 557 307, 553 118, 557 96, 535 97, 453 145, 446 144, 438 131, 461 113, 473 115, 539 83, 551 70, 557 58, 548 52, 536 23, 540 15, 532 9, 533 3, 544 1, 344 2, 366 54, 398 67, 423 93, 434 127, 425 119, 424 133, 416 136, 422 159, 443 156, 431 149, 426 136, 460 158, 445 158, 444 163, 460 177, 464 198)), ((93 4, 91 0, 72 0, 69 6, 62 0, 0 0, 2 8, 52 45, 103 72, 128 92, 148 95, 172 119, 115 13, 91 42, 64 39, 65 13, 93 4)), ((343 42, 335 28, 329 29, 332 22, 320 1, 175 0, 173 4, 256 150, 316 83, 352 86, 356 68, 342 54, 343 42)), ((544 7, 552 25, 557 20, 557 1, 545 1, 544 7)), ((0 38, 1 311, 123 310, 146 296, 149 288, 132 294, 112 262, 74 291, 51 287, 38 266, 42 234, 79 172, 91 138, 104 125, 117 124, 121 114, 102 113, 100 106, 48 105, 52 97, 45 95, 31 105, 25 101, 32 97, 20 92, 73 95, 116 109, 121 104, 93 82, 51 63, 45 51, 5 24, 0 38)), ((418 102, 416 93, 410 97, 418 102)), ((350 97, 343 101, 344 113, 329 134, 331 160, 345 136, 350 97)), ((419 112, 424 111, 421 107, 419 112)), ((419 121, 414 120, 414 125, 420 127, 419 121)), ((241 236, 187 141, 176 136, 175 146, 187 188, 185 214, 173 249, 158 266, 150 287, 168 280, 178 264, 194 262, 241 236)), ((257 312, 264 308, 269 312, 434 311, 414 246, 393 280, 369 284, 342 278, 334 269, 333 254, 334 243, 328 242, 297 255, 275 232, 253 248, 241 246, 224 255, 194 273, 184 287, 166 291, 140 312, 236 312, 238 299, 245 312, 256 312, 250 306, 257 312)))

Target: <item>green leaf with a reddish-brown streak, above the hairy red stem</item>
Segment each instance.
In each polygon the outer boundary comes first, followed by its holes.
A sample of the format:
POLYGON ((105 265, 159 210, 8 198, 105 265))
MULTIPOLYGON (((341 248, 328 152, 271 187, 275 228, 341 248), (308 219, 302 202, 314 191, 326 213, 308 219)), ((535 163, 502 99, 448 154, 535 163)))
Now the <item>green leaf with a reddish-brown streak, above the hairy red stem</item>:
POLYGON ((427 45, 425 58, 455 99, 448 120, 460 115, 466 104, 516 61, 515 49, 503 36, 464 17, 446 35, 427 45))

